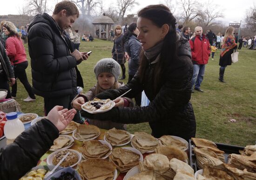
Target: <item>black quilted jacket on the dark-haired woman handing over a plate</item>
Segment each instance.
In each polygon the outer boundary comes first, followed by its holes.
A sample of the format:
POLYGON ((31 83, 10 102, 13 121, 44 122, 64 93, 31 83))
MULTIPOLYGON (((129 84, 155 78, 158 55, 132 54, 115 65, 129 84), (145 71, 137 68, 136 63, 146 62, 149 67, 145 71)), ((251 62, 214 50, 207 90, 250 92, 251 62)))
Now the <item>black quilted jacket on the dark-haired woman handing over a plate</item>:
POLYGON ((126 86, 97 95, 101 99, 113 100, 131 88, 132 90, 125 96, 133 98, 144 90, 150 100, 149 106, 116 107, 106 113, 94 114, 94 118, 97 120, 112 119, 112 121, 125 124, 149 122, 152 134, 156 138, 164 134, 179 136, 185 140, 195 137, 195 115, 189 102, 193 65, 188 40, 182 38, 178 49, 178 59, 166 68, 162 77, 164 79, 162 86, 156 93, 152 89, 154 68, 155 64, 148 65, 147 77, 143 83, 135 74, 133 80, 126 86))

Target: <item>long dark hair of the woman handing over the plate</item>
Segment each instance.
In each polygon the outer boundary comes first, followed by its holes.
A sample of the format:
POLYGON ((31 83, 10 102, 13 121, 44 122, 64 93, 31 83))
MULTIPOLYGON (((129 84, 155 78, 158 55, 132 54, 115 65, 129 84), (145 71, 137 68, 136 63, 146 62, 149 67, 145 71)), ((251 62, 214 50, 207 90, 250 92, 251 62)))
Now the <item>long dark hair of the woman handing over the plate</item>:
MULTIPOLYGON (((169 26, 169 31, 166 34, 163 45, 161 49, 160 60, 156 64, 154 69, 154 92, 157 93, 161 88, 163 81, 163 73, 165 68, 168 67, 169 63, 177 58, 177 35, 175 30, 176 19, 173 14, 170 12, 169 8, 159 4, 159 5, 149 5, 141 9, 138 13, 138 17, 146 18, 151 20, 155 26, 162 27, 164 24, 169 26), (157 15, 156 15, 157 14, 157 15)), ((139 77, 141 82, 145 79, 145 71, 148 66, 148 60, 144 55, 144 52, 141 53, 141 64, 139 67, 139 77)))

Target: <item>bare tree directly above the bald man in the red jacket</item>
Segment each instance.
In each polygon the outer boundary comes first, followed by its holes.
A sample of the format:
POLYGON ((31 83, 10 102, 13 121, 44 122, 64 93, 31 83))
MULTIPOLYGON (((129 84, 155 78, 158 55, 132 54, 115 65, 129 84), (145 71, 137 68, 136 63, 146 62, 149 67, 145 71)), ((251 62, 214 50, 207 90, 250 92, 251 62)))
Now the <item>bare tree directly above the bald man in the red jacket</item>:
POLYGON ((177 5, 182 10, 182 19, 184 22, 190 22, 199 16, 198 7, 200 4, 195 0, 178 0, 177 5))

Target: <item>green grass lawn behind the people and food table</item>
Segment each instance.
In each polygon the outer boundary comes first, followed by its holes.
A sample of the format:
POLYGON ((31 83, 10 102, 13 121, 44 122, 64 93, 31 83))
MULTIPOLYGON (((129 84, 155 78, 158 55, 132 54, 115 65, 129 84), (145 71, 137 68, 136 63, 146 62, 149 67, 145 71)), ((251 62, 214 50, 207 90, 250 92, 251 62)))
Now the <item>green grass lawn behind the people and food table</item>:
MULTIPOLYGON (((79 65, 85 88, 88 91, 96 83, 93 67, 102 58, 111 57, 113 43, 111 41, 94 40, 81 42, 80 51, 92 51, 90 58, 79 65)), ((27 49, 27 45, 25 46, 27 49)), ((192 93, 191 102, 197 122, 196 137, 215 142, 245 146, 256 141, 256 51, 243 48, 239 51, 239 61, 228 66, 224 80, 218 81, 219 51, 215 60, 209 60, 205 70, 201 88, 204 93, 192 93), (230 122, 236 119, 236 122, 230 122)), ((30 58, 27 52, 29 67, 27 77, 31 80, 30 58)), ((126 63, 127 66, 127 63, 126 63)), ((127 73, 128 75, 128 73, 127 73)), ((128 78, 127 78, 128 79, 128 78)), ((127 82, 127 79, 124 82, 127 82)), ((18 81, 16 100, 23 113, 43 115, 43 99, 36 96, 34 102, 24 102, 27 92, 18 81)), ((150 133, 148 123, 128 125, 128 131, 145 131, 150 133)))

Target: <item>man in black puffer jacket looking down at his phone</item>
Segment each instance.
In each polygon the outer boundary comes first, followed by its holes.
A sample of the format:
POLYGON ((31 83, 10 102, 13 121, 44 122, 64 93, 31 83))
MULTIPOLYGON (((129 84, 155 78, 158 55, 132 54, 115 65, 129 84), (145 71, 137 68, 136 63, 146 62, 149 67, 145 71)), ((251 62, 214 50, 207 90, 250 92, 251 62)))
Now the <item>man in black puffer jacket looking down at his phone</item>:
MULTIPOLYGON (((71 28, 78 17, 79 11, 73 2, 61 1, 56 4, 52 16, 38 14, 29 25, 33 90, 44 98, 45 115, 56 105, 71 109, 77 86, 81 86, 77 84, 80 73, 76 65, 88 55, 73 51, 64 31, 71 28)), ((79 113, 74 121, 80 122, 79 113)))

